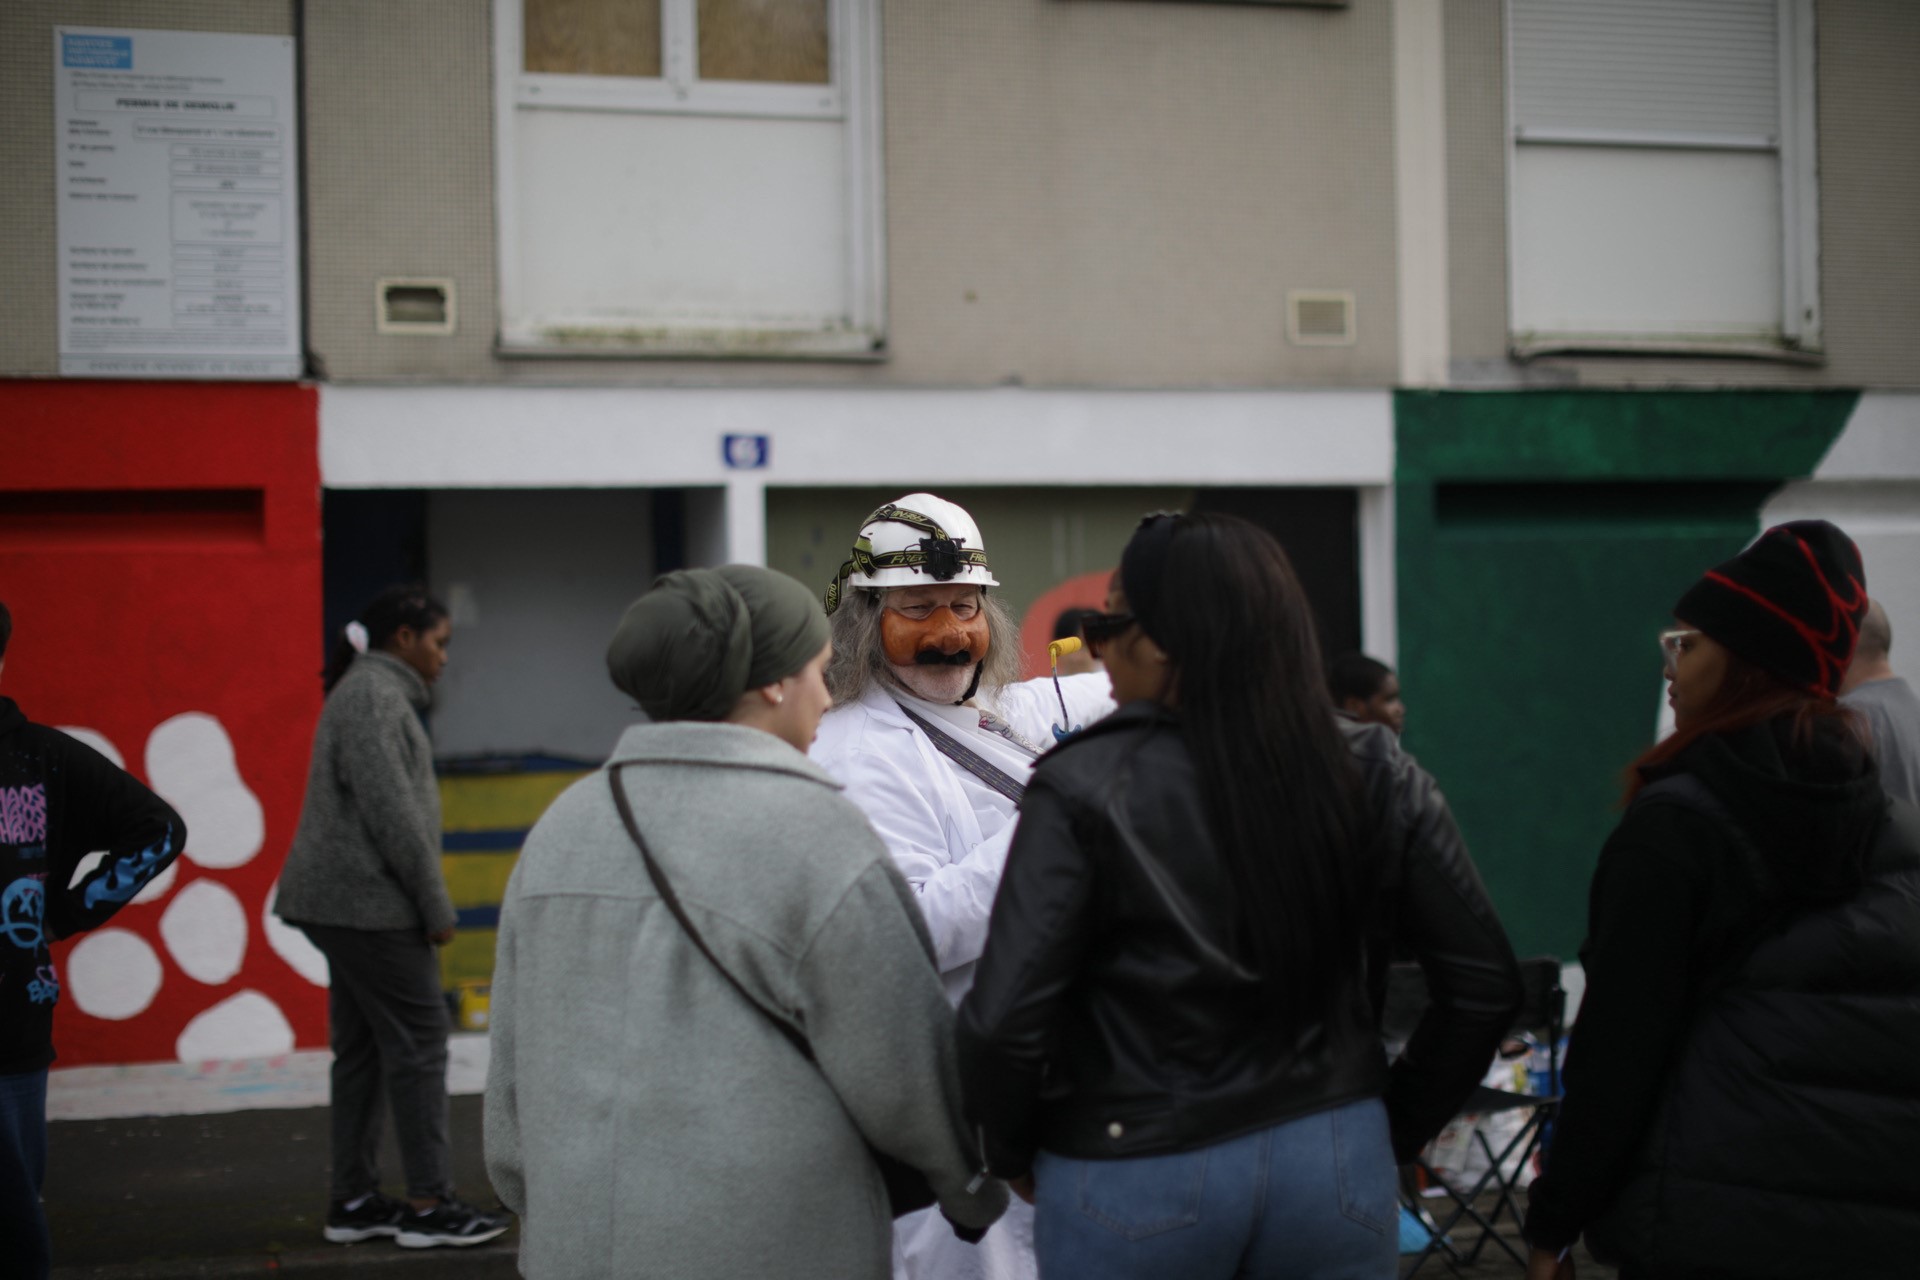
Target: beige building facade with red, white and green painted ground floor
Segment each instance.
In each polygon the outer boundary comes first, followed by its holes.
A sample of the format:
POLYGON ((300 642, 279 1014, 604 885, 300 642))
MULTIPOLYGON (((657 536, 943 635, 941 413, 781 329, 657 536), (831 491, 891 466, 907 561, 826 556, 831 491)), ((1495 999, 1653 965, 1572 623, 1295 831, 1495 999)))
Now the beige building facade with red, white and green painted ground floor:
POLYGON ((27 647, 90 652, 81 583, 192 649, 132 572, 188 553, 102 530, 228 493, 236 445, 150 405, 265 397, 250 447, 301 461, 248 480, 261 530, 282 489, 321 495, 273 551, 301 568, 215 610, 290 628, 228 664, 290 708, 278 737, 211 695, 150 712, 219 720, 263 808, 259 869, 194 860, 171 890, 219 879, 244 960, 194 977, 169 904, 129 908, 186 994, 81 1002, 69 1059, 319 1042, 313 965, 263 921, 298 816, 267 779, 303 762, 326 628, 380 585, 426 578, 455 614, 449 981, 484 977, 541 779, 630 716, 599 660, 620 606, 680 564, 824 585, 920 487, 981 518, 1029 635, 1098 597, 1144 510, 1275 530, 1327 645, 1402 668, 1517 946, 1571 956, 1619 770, 1659 731, 1653 633, 1705 564, 1824 514, 1920 635, 1916 54, 1885 0, 8 6, 0 430, 33 459, 0 468, 8 689, 109 723, 111 681, 27 647), (298 380, 75 370, 60 36, 156 29, 292 42, 286 155, 248 163, 298 157, 298 380), (92 558, 50 547, 56 514, 92 558), (246 1002, 186 1040, 248 994, 280 1021, 246 1002))

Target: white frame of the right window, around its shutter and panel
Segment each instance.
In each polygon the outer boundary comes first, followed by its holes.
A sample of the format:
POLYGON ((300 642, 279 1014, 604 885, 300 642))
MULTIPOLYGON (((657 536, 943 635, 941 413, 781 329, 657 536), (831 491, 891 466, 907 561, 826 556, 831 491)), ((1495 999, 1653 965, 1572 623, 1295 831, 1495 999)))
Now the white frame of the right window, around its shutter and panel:
POLYGON ((1820 186, 1818 186, 1818 125, 1814 117, 1816 42, 1814 0, 1774 0, 1774 31, 1778 58, 1778 132, 1764 136, 1645 132, 1607 129, 1523 130, 1515 119, 1513 73, 1513 6, 1503 0, 1503 73, 1505 73, 1505 138, 1503 169, 1507 184, 1507 342, 1515 359, 1551 353, 1655 353, 1655 355, 1718 355, 1774 359, 1788 363, 1824 363, 1824 332, 1820 315, 1820 186), (1734 336, 1684 338, 1670 334, 1557 334, 1523 332, 1515 328, 1519 315, 1521 271, 1513 228, 1519 225, 1519 194, 1515 188, 1515 157, 1528 142, 1557 146, 1611 146, 1661 150, 1770 152, 1780 159, 1780 338, 1755 340, 1734 336))

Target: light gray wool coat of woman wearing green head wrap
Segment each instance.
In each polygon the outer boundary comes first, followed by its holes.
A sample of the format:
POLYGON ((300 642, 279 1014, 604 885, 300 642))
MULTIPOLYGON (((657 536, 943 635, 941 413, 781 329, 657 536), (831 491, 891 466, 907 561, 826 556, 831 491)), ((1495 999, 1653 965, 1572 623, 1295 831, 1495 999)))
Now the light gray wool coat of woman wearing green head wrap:
POLYGON ((883 1280, 891 1217, 862 1138, 993 1222, 960 1115, 952 1011, 912 890, 860 810, 783 741, 626 731, 611 764, 687 915, 660 902, 607 771, 528 835, 501 906, 486 1163, 530 1280, 883 1280))

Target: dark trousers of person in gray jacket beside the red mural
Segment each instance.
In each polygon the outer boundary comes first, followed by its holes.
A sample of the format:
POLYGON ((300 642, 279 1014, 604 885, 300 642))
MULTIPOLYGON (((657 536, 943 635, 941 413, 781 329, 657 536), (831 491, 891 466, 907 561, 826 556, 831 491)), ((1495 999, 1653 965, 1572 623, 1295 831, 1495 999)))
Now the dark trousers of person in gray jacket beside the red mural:
POLYGON ((447 1006, 440 961, 413 929, 301 925, 326 956, 334 1199, 380 1190, 380 1100, 394 1111, 407 1196, 453 1196, 447 1155, 447 1006))

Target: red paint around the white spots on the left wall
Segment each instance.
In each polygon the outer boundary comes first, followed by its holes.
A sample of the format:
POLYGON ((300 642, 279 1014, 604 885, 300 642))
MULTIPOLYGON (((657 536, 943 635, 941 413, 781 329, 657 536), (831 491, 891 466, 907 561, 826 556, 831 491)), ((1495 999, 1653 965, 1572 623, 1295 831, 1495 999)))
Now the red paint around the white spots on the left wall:
POLYGON ((56 946, 67 986, 54 1025, 60 1065, 175 1059, 188 1023, 242 992, 276 1006, 298 1044, 324 1044, 324 990, 282 960, 261 923, 321 706, 317 415, 317 391, 288 384, 0 382, 0 599, 13 610, 0 693, 40 723, 104 735, 146 781, 154 729, 186 712, 211 716, 265 818, 255 854, 234 864, 227 852, 228 865, 209 867, 194 848, 215 839, 219 819, 196 825, 182 806, 188 844, 173 887, 109 925, 159 958, 142 1009, 88 1015, 67 965, 77 942, 56 946), (171 950, 161 931, 169 904, 200 879, 246 913, 240 969, 227 981, 194 979, 177 960, 180 938, 171 950))

